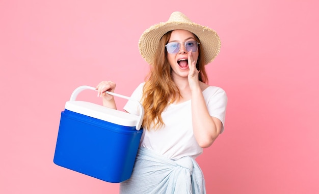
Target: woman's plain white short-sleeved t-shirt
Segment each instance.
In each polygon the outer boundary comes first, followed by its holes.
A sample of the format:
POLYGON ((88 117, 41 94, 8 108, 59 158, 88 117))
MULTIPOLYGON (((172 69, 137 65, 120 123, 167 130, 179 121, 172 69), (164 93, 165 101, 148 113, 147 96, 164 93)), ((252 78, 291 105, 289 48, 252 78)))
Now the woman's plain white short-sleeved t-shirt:
MULTIPOLYGON (((141 83, 132 93, 131 98, 141 102, 144 83, 141 83)), ((215 86, 209 86, 203 91, 204 99, 210 116, 222 122, 224 131, 225 113, 227 105, 226 92, 215 86)), ((131 114, 139 115, 136 103, 128 101, 124 110, 131 114)), ((191 100, 170 104, 162 113, 165 126, 157 130, 144 128, 140 146, 151 149, 158 154, 171 159, 183 156, 196 158, 203 152, 193 134, 191 100)))

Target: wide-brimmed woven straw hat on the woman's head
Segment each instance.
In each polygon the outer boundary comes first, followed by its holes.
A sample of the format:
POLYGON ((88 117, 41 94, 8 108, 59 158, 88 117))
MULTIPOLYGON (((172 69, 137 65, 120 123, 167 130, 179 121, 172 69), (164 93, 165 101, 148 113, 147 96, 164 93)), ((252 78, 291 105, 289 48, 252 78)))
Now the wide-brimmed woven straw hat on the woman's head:
POLYGON ((214 60, 218 55, 221 48, 221 41, 215 30, 192 22, 181 12, 173 12, 167 22, 152 25, 141 35, 139 49, 146 62, 149 64, 153 62, 159 40, 168 31, 175 29, 188 30, 199 38, 202 47, 201 52, 204 53, 205 64, 214 60))

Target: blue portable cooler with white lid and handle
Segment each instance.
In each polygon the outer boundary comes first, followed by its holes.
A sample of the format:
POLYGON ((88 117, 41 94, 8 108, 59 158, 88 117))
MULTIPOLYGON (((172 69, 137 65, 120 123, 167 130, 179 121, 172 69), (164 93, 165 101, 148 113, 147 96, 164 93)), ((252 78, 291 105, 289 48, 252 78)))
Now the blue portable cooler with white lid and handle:
POLYGON ((90 86, 76 88, 61 112, 54 163, 107 182, 129 179, 143 133, 144 109, 138 101, 108 91, 136 101, 140 115, 75 101, 85 89, 95 90, 90 86))

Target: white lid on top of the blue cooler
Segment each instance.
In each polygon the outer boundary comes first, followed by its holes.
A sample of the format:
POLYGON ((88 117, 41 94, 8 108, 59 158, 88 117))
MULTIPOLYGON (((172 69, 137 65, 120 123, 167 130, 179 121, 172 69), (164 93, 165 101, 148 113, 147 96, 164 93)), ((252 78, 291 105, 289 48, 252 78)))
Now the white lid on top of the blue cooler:
POLYGON ((136 126, 139 116, 85 101, 68 101, 65 109, 122 126, 136 126))

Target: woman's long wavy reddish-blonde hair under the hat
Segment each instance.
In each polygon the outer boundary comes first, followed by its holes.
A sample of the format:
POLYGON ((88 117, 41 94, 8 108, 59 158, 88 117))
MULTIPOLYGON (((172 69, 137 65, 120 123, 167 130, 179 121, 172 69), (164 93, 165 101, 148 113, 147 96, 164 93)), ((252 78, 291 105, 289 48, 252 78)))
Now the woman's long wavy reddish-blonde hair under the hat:
MULTIPOLYGON (((165 108, 179 99, 180 91, 172 79, 172 69, 167 60, 167 52, 165 45, 171 37, 172 31, 169 31, 159 41, 158 48, 155 52, 154 61, 150 72, 146 77, 143 87, 142 105, 145 110, 143 127, 154 130, 165 125, 162 119, 162 112, 165 108)), ((195 40, 200 43, 200 40, 194 35, 195 40)), ((205 71, 204 56, 201 52, 201 44, 199 44, 199 56, 196 67, 199 72, 199 81, 208 83, 207 74, 205 71)))

